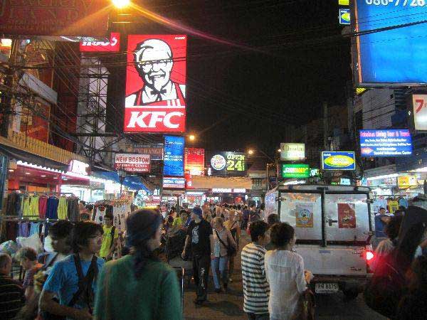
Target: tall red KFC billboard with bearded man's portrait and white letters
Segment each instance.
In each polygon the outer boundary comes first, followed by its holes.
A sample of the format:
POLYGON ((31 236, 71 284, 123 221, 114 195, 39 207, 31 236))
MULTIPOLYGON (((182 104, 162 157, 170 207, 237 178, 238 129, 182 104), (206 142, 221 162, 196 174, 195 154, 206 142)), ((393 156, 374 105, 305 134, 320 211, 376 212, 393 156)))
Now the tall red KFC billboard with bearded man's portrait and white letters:
POLYGON ((186 36, 127 41, 124 132, 185 132, 186 36))

